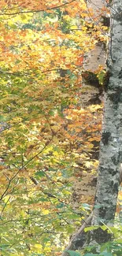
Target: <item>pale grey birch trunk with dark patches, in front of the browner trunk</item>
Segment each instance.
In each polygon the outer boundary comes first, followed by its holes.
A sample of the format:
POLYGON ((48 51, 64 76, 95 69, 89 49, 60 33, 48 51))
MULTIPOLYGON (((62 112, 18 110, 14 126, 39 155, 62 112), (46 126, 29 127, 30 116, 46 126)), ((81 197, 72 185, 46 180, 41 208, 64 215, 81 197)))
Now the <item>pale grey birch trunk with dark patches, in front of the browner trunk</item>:
POLYGON ((108 77, 92 224, 109 224, 116 213, 122 154, 122 1, 111 6, 108 77))

